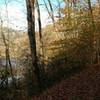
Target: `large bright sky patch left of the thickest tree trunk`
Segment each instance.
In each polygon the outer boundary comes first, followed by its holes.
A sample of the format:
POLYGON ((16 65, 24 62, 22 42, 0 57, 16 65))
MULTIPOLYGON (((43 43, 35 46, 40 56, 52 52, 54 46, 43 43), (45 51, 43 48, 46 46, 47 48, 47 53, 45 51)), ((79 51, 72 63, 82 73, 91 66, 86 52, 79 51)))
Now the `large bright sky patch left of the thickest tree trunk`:
MULTIPOLYGON (((7 0, 8 1, 8 0, 7 0)), ((4 26, 7 25, 9 20, 9 26, 15 29, 24 29, 27 26, 26 22, 26 7, 25 1, 11 1, 7 3, 8 18, 6 12, 5 0, 0 0, 0 15, 4 22, 4 26)))

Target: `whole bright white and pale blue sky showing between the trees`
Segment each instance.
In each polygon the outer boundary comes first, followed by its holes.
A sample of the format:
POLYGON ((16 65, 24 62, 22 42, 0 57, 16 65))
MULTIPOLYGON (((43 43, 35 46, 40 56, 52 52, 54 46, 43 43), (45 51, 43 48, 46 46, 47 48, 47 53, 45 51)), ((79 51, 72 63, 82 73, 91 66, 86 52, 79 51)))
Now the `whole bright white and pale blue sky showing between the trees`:
MULTIPOLYGON (((47 2, 47 0, 45 0, 47 2)), ((95 2, 95 0, 92 0, 95 2)), ((62 2, 62 0, 60 0, 62 2)), ((42 21, 42 27, 47 25, 47 23, 50 23, 51 20, 48 16, 48 12, 46 11, 46 8, 44 6, 43 0, 39 0, 40 9, 41 9, 41 21, 42 21)), ((52 0, 53 9, 55 11, 55 15, 57 14, 57 1, 52 0)), ((64 6, 64 3, 61 3, 61 7, 64 6)), ((4 26, 9 24, 10 27, 13 27, 14 29, 18 30, 25 30, 27 28, 27 18, 26 18, 26 3, 25 0, 0 0, 0 16, 4 22, 4 26), (8 17, 9 17, 9 23, 7 22, 7 12, 6 12, 6 6, 5 1, 9 2, 7 4, 7 11, 8 11, 8 17)), ((37 13, 36 13, 36 19, 37 19, 37 13)), ((37 25, 37 23, 36 23, 37 25)))

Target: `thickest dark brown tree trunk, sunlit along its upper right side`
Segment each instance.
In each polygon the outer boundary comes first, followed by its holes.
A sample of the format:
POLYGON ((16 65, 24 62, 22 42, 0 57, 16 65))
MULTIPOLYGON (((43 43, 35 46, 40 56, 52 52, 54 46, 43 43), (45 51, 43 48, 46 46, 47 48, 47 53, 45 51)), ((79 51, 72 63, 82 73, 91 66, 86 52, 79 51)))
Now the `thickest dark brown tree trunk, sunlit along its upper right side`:
MULTIPOLYGON (((42 74, 44 71, 43 66, 38 66, 38 59, 37 59, 37 51, 36 51, 36 37, 35 37, 35 0, 26 0, 27 5, 27 21, 28 21, 28 37, 30 41, 30 49, 31 49, 31 57, 32 57, 32 64, 33 64, 33 73, 36 74, 37 82, 40 87, 40 90, 42 89, 43 80, 42 74)), ((40 19, 39 19, 40 24, 40 19)), ((41 26, 40 26, 40 32, 41 32, 41 26)), ((41 33, 40 33, 41 35, 41 33)), ((41 37, 41 36, 40 36, 41 37)))

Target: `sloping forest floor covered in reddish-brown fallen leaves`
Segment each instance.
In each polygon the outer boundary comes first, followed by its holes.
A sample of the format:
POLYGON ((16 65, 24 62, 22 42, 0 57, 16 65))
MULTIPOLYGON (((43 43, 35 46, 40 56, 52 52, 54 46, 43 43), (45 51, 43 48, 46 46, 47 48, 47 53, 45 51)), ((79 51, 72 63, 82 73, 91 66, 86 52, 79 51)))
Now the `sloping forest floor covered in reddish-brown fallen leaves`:
POLYGON ((32 100, 100 100, 100 65, 86 67, 32 100))

